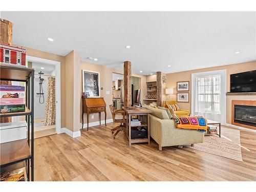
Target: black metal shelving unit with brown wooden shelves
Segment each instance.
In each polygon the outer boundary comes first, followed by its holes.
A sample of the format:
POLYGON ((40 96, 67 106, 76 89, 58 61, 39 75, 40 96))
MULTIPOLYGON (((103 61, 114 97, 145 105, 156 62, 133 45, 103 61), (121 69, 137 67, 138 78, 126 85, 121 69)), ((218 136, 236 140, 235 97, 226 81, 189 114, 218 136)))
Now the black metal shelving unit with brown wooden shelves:
POLYGON ((0 113, 0 117, 25 115, 28 125, 27 139, 0 144, 0 168, 18 163, 20 164, 20 162, 25 161, 28 181, 34 181, 34 69, 11 65, 0 65, 0 80, 26 82, 25 112, 0 113))

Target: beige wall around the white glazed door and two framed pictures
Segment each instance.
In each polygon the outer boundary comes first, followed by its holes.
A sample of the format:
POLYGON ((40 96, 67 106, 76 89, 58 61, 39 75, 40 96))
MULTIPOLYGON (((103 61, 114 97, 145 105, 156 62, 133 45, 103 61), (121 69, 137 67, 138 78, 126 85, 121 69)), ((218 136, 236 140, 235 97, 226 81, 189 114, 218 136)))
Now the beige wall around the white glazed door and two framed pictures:
MULTIPOLYGON (((178 81, 189 81, 189 102, 183 103, 179 102, 180 108, 184 110, 191 110, 191 74, 192 73, 199 73, 199 72, 205 72, 205 71, 215 71, 215 70, 227 70, 227 92, 230 91, 230 74, 233 73, 241 73, 245 71, 250 70, 256 70, 256 61, 252 62, 244 62, 244 63, 238 63, 234 65, 227 65, 227 66, 219 66, 219 67, 212 67, 212 68, 205 68, 205 69, 198 69, 198 70, 191 70, 191 71, 184 71, 184 72, 178 72, 178 73, 168 73, 166 74, 166 88, 174 88, 174 95, 170 95, 170 100, 176 100, 176 93, 177 93, 177 82, 178 81)), ((166 95, 166 98, 169 96, 166 95)), ((253 99, 254 96, 249 97, 253 99)), ((230 96, 227 96, 227 122, 230 121, 229 114, 231 114, 231 108, 229 106, 229 98, 230 96)), ((255 100, 256 98, 254 98, 255 100)))

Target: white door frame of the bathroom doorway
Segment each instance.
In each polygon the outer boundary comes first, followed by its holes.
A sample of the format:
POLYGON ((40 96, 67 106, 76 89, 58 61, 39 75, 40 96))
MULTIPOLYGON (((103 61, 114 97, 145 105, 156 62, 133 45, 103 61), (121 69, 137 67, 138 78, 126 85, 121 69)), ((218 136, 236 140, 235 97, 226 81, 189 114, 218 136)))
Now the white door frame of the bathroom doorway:
POLYGON ((55 66, 55 98, 56 98, 56 133, 61 133, 61 90, 60 90, 60 62, 33 56, 26 56, 26 61, 40 62, 55 66))

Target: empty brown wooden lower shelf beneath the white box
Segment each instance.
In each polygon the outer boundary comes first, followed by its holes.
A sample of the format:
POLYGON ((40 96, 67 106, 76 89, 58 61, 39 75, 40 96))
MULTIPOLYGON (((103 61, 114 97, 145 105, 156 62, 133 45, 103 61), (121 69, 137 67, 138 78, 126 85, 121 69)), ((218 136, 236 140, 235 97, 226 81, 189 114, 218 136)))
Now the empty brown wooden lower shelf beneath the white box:
POLYGON ((27 139, 0 144, 0 165, 30 158, 30 148, 27 139))

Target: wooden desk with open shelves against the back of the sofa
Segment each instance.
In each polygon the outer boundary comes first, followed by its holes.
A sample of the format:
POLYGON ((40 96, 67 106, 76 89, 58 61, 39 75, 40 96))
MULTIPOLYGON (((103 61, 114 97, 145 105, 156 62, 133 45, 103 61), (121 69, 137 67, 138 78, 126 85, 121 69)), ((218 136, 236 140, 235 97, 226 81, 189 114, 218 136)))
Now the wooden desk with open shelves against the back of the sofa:
MULTIPOLYGON (((129 139, 129 146, 131 146, 132 143, 148 142, 148 144, 150 144, 150 117, 148 116, 148 114, 152 113, 152 111, 144 108, 136 108, 135 106, 123 106, 122 109, 125 111, 125 114, 126 114, 126 136, 129 139), (141 120, 140 126, 147 127, 147 138, 141 138, 141 139, 131 138, 131 130, 133 127, 131 125, 132 115, 138 115, 138 118, 141 120)), ((134 125, 134 127, 137 127, 137 126, 138 125, 134 125)))

